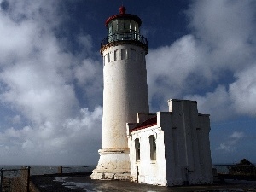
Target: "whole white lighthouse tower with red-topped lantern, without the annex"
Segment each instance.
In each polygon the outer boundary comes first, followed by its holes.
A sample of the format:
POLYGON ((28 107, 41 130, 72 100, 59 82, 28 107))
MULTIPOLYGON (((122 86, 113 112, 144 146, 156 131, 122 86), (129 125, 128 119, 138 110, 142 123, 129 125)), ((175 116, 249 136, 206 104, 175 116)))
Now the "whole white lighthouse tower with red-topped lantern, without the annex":
POLYGON ((102 41, 103 119, 100 160, 93 179, 128 179, 129 148, 126 123, 136 122, 137 113, 148 113, 148 85, 145 55, 148 42, 140 34, 142 21, 136 15, 119 15, 106 20, 108 37, 102 41))

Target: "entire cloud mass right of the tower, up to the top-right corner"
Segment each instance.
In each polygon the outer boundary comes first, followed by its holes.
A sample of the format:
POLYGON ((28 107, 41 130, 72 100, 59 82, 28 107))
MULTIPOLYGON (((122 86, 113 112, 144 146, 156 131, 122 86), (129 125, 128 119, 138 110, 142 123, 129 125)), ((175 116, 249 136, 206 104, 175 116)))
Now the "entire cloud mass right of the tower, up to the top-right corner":
POLYGON ((151 107, 186 98, 213 122, 255 117, 255 10, 254 1, 194 1, 186 11, 191 34, 148 53, 151 107))

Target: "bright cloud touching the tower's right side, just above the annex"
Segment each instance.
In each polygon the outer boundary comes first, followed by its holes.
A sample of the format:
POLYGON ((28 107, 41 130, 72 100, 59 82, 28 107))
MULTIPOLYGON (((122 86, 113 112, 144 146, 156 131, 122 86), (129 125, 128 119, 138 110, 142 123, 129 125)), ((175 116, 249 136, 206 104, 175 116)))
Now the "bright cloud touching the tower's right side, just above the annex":
POLYGON ((205 49, 198 45, 193 35, 183 36, 171 46, 149 50, 149 96, 160 96, 166 102, 170 97, 181 97, 210 84, 215 77, 211 66, 205 67, 205 55, 205 49))

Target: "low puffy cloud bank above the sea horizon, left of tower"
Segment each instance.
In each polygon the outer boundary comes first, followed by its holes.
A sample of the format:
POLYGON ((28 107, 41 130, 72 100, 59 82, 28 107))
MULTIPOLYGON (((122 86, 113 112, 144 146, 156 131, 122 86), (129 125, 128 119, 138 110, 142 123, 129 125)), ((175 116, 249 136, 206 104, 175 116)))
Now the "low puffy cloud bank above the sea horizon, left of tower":
POLYGON ((15 154, 20 158, 19 163, 24 164, 67 164, 72 161, 93 164, 100 148, 101 130, 101 107, 96 107, 94 112, 81 109, 77 117, 66 119, 62 124, 45 122, 40 127, 10 128, 0 134, 1 160, 15 163, 17 161, 12 160, 15 154), (9 139, 12 139, 11 144, 9 139), (42 155, 45 160, 41 159, 42 155), (80 159, 73 160, 75 156, 80 159))

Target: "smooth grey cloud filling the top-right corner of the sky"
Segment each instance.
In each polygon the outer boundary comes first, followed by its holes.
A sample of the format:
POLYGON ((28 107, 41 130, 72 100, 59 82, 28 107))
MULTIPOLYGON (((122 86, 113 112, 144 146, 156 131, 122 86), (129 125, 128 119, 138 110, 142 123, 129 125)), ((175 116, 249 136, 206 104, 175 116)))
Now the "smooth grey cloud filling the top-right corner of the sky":
POLYGON ((249 42, 255 44, 253 1, 196 1, 189 16, 195 35, 212 49, 217 65, 236 70, 252 56, 253 44, 249 42))

